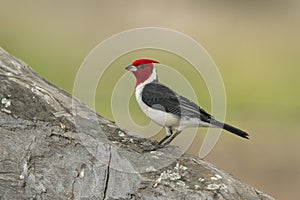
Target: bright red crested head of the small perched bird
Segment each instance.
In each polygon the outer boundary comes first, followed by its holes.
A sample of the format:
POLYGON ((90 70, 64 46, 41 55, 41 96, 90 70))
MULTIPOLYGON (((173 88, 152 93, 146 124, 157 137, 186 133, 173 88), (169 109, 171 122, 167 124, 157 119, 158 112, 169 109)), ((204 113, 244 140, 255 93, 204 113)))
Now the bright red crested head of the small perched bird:
MULTIPOLYGON (((148 80, 151 75, 156 79, 156 72, 154 65, 159 62, 150 59, 139 59, 134 61, 131 65, 127 66, 125 69, 131 71, 136 77, 136 86, 144 81, 148 80)), ((153 81, 153 80, 152 80, 153 81)))

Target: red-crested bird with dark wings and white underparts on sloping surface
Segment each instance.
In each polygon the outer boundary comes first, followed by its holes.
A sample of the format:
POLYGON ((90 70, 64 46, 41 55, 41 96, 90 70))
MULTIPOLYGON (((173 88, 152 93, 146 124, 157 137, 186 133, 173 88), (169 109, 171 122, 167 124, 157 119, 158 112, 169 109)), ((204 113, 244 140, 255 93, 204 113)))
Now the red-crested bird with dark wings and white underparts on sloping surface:
POLYGON ((144 114, 166 129, 166 135, 158 145, 170 144, 184 129, 189 127, 217 127, 242 138, 248 133, 220 122, 190 99, 158 81, 156 67, 159 62, 152 59, 137 59, 125 69, 136 78, 134 93, 144 114))

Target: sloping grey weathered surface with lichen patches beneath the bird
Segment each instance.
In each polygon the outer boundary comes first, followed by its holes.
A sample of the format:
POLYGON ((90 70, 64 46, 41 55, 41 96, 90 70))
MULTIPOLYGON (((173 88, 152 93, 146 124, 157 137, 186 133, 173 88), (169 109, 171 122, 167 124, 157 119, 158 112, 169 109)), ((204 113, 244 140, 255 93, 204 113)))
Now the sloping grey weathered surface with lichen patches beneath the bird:
POLYGON ((273 199, 131 136, 0 48, 0 199, 273 199))

